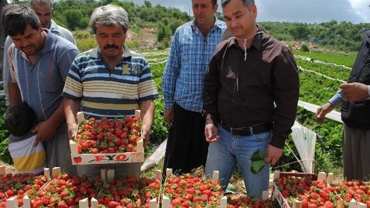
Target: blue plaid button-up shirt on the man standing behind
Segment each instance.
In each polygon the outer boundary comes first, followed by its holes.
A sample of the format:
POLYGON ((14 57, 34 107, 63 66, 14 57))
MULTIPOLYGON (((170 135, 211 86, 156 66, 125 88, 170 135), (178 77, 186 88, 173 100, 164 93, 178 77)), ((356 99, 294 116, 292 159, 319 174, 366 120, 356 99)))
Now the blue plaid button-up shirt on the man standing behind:
POLYGON ((202 111, 203 79, 226 24, 215 17, 215 25, 204 37, 195 20, 180 26, 173 37, 162 89, 165 108, 174 102, 186 110, 202 111))

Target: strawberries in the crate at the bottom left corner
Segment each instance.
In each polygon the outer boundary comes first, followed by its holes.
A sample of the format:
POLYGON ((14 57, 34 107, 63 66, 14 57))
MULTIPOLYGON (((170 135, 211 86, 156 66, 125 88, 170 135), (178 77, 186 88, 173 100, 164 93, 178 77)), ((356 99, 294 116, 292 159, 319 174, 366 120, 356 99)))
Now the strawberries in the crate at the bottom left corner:
POLYGON ((6 200, 17 196, 18 205, 23 205, 23 197, 32 191, 40 190, 47 182, 45 176, 36 176, 32 173, 8 173, 0 177, 0 208, 6 208, 6 200))

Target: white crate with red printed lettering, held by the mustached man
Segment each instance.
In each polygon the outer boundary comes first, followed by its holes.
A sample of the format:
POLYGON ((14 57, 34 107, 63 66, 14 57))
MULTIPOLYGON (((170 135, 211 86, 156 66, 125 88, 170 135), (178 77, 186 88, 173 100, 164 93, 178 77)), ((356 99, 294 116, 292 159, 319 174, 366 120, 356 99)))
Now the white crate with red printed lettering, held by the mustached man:
MULTIPOLYGON (((140 110, 135 111, 135 117, 140 118, 140 110)), ((78 127, 84 121, 82 112, 77 113, 78 127)), ((77 134, 76 134, 77 135, 77 134)), ((71 157, 73 165, 138 163, 144 161, 143 139, 137 142, 137 152, 108 153, 108 154, 78 154, 77 143, 70 140, 71 157)))

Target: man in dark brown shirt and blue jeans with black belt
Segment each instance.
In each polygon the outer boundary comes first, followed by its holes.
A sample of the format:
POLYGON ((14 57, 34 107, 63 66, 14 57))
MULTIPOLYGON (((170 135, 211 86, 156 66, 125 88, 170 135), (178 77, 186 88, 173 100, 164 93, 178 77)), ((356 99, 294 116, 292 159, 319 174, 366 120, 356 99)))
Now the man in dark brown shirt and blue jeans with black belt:
POLYGON ((260 150, 275 165, 281 157, 296 118, 298 71, 292 52, 256 24, 254 0, 221 4, 235 38, 217 46, 204 80, 206 174, 219 171, 226 186, 238 165, 248 195, 260 198, 269 166, 253 174, 250 158, 260 150))

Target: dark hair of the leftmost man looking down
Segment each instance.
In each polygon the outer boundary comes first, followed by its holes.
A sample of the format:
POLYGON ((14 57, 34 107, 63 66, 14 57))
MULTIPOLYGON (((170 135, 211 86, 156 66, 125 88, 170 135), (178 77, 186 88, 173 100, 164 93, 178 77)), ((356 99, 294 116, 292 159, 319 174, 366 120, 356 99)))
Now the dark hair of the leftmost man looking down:
POLYGON ((26 26, 30 24, 38 30, 40 20, 34 10, 21 4, 9 4, 2 10, 1 25, 6 35, 23 35, 26 26))

